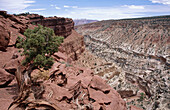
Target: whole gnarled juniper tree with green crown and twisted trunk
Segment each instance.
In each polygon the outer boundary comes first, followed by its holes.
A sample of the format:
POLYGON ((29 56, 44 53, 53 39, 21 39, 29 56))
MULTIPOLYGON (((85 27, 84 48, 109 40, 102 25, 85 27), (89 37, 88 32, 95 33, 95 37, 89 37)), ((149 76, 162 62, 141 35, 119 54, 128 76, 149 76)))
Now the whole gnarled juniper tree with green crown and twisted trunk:
MULTIPOLYGON (((27 29, 24 32, 25 38, 18 37, 16 47, 23 48, 21 55, 25 55, 22 65, 27 68, 21 70, 18 67, 15 73, 20 93, 11 103, 8 110, 18 110, 18 107, 29 108, 29 104, 36 107, 36 104, 51 107, 50 110, 59 110, 57 106, 47 101, 36 99, 36 94, 41 93, 41 89, 33 89, 40 86, 38 82, 31 80, 31 72, 35 68, 49 69, 53 65, 51 55, 58 51, 58 47, 63 42, 63 37, 55 36, 54 31, 50 28, 38 25, 33 30, 27 29), (30 100, 31 99, 31 100, 30 100)), ((41 85, 43 86, 43 85, 41 85)))

